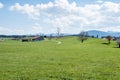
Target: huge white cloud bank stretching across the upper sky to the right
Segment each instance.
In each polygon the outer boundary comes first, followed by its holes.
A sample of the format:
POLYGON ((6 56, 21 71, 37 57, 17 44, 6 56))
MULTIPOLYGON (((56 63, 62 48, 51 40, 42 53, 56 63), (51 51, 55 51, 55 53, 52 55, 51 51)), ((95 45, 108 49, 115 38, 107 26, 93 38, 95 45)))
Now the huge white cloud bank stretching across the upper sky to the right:
MULTIPOLYGON (((23 6, 16 3, 10 7, 10 10, 20 11, 32 19, 43 20, 43 24, 61 27, 64 32, 68 29, 71 29, 70 31, 74 29, 76 31, 78 29, 111 29, 112 31, 113 28, 119 28, 120 3, 103 0, 97 0, 97 2, 84 6, 77 6, 76 2, 70 3, 68 0, 55 0, 54 2, 37 5, 24 4, 23 6)), ((40 31, 42 27, 35 25, 32 28, 35 31, 37 29, 40 31)))

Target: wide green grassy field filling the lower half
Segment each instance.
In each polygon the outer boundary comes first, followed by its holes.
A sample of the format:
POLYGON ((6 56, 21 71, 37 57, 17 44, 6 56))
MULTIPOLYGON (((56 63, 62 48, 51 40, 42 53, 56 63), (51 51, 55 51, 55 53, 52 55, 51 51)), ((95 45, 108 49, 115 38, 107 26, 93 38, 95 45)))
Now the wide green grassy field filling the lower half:
POLYGON ((120 80, 120 49, 76 37, 0 42, 0 80, 120 80))

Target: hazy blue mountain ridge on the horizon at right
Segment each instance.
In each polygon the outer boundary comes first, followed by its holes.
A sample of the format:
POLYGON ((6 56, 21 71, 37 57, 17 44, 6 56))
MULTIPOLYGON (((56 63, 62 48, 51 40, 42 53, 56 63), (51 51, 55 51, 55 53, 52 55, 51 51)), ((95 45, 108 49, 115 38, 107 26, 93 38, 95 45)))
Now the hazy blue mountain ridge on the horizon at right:
POLYGON ((101 38, 102 36, 108 36, 108 35, 115 36, 115 37, 120 36, 120 32, 110 32, 110 31, 104 32, 104 31, 98 31, 98 30, 89 30, 87 32, 90 36, 96 37, 98 35, 99 38, 101 38))

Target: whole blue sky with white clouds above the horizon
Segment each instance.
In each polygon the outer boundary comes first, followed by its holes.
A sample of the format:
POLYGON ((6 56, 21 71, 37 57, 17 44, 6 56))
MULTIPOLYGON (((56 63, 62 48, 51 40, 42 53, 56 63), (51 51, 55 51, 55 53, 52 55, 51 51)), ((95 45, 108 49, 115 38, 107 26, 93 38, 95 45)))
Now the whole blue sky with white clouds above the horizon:
POLYGON ((0 34, 120 32, 119 0, 0 0, 0 34))

